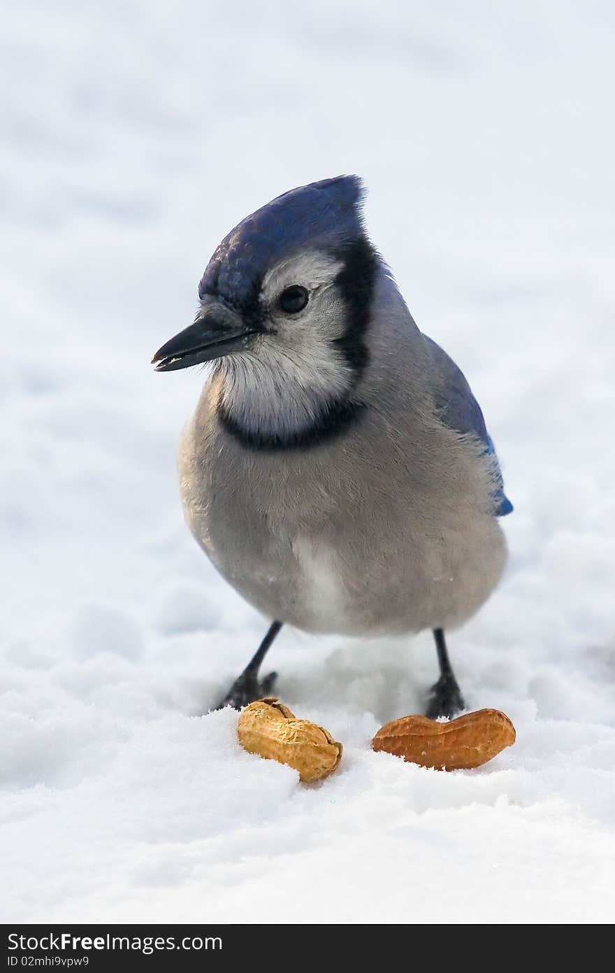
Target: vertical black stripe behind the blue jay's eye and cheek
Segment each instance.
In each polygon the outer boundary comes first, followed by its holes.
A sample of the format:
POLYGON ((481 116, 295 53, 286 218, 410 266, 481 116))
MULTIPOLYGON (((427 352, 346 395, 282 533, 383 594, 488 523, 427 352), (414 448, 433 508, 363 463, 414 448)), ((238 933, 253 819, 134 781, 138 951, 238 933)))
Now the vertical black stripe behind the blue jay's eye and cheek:
POLYGON ((359 378, 368 359, 363 338, 371 314, 378 272, 378 255, 367 237, 359 236, 358 239, 337 251, 335 256, 344 263, 344 267, 335 279, 342 292, 348 318, 344 334, 341 338, 333 339, 332 343, 341 349, 346 361, 359 378))

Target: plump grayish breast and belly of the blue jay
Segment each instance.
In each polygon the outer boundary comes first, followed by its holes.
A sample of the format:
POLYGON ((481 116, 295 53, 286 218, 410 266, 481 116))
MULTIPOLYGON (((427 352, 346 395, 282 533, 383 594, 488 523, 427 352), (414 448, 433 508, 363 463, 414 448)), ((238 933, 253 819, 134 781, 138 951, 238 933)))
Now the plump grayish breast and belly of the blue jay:
POLYGON ((194 536, 241 595, 270 619, 345 634, 451 628, 478 609, 505 560, 489 469, 424 398, 393 402, 403 386, 383 380, 342 439, 254 451, 222 430, 220 381, 180 477, 194 536))

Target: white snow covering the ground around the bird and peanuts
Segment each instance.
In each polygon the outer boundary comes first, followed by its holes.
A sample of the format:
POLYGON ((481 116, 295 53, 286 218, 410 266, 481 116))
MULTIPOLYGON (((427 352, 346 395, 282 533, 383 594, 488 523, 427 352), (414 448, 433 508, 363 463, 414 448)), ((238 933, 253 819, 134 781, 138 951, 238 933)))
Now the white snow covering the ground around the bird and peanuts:
POLYGON ((612 920, 614 28, 533 0, 3 18, 3 919, 612 920), (450 646, 518 742, 448 775, 374 754, 429 637, 283 631, 282 698, 345 744, 305 787, 199 715, 265 622, 182 520, 203 377, 149 361, 223 234, 340 172, 502 459, 508 572, 450 646))

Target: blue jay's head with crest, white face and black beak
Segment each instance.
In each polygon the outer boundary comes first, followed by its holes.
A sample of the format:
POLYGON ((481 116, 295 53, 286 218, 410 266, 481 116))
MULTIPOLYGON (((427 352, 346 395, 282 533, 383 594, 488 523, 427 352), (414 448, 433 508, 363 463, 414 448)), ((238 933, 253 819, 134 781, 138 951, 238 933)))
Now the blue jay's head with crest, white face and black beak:
POLYGON ((194 322, 154 355, 158 372, 215 361, 222 406, 263 431, 298 427, 356 387, 379 258, 357 176, 290 190, 246 217, 211 258, 194 322))

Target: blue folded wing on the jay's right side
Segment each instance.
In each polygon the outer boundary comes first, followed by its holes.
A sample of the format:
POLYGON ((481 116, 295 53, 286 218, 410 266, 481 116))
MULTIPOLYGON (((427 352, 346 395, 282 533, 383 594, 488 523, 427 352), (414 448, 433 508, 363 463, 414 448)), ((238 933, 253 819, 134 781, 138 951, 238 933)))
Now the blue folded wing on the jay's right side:
POLYGON ((493 456, 496 490, 495 516, 505 517, 513 511, 513 505, 504 493, 501 470, 495 455, 494 441, 487 432, 481 407, 472 395, 472 390, 461 369, 457 367, 439 344, 424 335, 431 351, 435 372, 435 403, 440 418, 449 429, 461 433, 473 433, 485 444, 485 453, 493 456))

